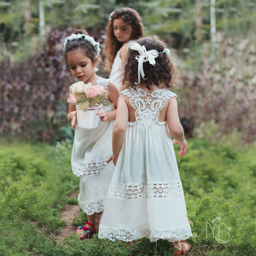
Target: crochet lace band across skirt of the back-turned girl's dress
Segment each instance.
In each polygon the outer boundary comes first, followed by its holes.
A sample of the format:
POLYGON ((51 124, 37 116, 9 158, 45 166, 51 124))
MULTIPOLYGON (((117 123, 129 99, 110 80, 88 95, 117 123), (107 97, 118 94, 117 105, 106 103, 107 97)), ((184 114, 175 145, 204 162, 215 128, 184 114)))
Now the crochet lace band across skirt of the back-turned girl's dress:
POLYGON ((108 195, 122 199, 135 199, 142 196, 147 196, 148 198, 181 196, 184 195, 184 193, 181 182, 147 184, 123 184, 111 182, 108 195))

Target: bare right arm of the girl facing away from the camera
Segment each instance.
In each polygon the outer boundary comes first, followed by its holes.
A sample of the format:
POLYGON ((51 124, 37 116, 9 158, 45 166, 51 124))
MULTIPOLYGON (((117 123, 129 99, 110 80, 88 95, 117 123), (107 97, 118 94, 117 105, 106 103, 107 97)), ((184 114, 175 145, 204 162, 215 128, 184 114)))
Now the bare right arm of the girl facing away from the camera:
POLYGON ((178 156, 184 156, 187 151, 187 142, 184 138, 184 131, 179 119, 178 105, 175 97, 171 98, 169 101, 166 112, 166 121, 171 137, 173 138, 173 145, 179 144, 181 147, 178 156))

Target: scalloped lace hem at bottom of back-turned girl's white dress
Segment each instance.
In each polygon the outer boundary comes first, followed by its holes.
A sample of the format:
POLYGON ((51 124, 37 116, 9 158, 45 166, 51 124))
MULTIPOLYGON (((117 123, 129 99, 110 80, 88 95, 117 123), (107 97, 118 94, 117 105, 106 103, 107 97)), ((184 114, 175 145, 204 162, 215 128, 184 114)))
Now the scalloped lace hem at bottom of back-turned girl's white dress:
POLYGON ((110 241, 122 240, 131 242, 136 239, 146 237, 150 242, 156 242, 164 239, 169 242, 176 242, 192 237, 190 225, 164 231, 150 231, 147 227, 138 227, 134 229, 119 229, 99 225, 98 237, 108 238, 110 241))

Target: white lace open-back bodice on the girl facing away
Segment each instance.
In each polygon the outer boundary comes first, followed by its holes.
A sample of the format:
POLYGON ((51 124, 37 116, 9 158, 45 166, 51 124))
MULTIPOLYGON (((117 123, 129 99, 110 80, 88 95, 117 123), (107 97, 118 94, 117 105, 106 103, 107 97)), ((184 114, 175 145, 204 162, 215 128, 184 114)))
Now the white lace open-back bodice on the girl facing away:
POLYGON ((168 99, 177 95, 167 89, 154 90, 146 93, 142 88, 126 89, 121 92, 129 98, 131 106, 135 110, 135 122, 129 125, 138 125, 140 128, 152 128, 155 124, 164 125, 166 122, 159 122, 158 116, 168 99))

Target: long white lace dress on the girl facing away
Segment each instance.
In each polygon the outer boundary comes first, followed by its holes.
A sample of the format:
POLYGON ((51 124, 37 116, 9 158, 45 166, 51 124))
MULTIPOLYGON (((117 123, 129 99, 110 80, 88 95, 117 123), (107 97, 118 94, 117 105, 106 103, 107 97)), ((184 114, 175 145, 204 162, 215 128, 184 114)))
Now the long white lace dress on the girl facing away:
POLYGON ((176 96, 166 89, 121 92, 129 98, 135 122, 115 167, 99 225, 99 238, 133 241, 149 238, 180 241, 192 236, 172 139, 159 111, 176 96))

